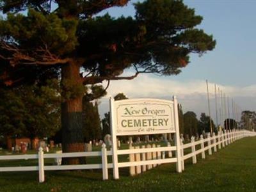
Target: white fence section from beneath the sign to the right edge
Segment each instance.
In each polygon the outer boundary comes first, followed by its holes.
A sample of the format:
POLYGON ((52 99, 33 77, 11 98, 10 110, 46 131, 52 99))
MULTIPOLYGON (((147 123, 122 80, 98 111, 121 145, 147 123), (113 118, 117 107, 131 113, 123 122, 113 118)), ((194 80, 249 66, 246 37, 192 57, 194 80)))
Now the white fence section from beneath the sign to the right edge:
POLYGON ((183 144, 183 141, 180 139, 180 155, 181 158, 177 158, 177 153, 175 157, 172 155, 172 151, 176 150, 176 146, 171 147, 170 143, 168 147, 160 147, 159 145, 156 147, 155 144, 151 145, 142 145, 141 148, 130 147, 129 150, 119 150, 118 154, 129 154, 129 163, 118 163, 118 167, 130 166, 130 175, 140 174, 141 172, 145 172, 146 170, 150 170, 151 168, 163 164, 163 163, 176 163, 177 159, 181 159, 182 170, 185 169, 184 161, 186 159, 192 158, 193 164, 196 163, 196 155, 202 154, 202 159, 205 159, 205 151, 208 150, 208 154, 212 155, 212 150, 217 152, 217 148, 221 149, 233 143, 236 140, 247 136, 256 136, 256 132, 252 131, 225 131, 218 132, 218 135, 211 136, 209 133, 207 134, 207 138, 204 138, 203 135, 200 136, 200 140, 195 141, 195 137, 191 137, 191 142, 183 144), (197 147, 198 146, 198 147, 197 147), (184 150, 186 148, 191 148, 191 152, 184 155, 184 150), (167 156, 166 156, 167 152, 167 156), (168 157, 168 159, 166 159, 168 157), (147 164, 147 166, 146 166, 147 164))

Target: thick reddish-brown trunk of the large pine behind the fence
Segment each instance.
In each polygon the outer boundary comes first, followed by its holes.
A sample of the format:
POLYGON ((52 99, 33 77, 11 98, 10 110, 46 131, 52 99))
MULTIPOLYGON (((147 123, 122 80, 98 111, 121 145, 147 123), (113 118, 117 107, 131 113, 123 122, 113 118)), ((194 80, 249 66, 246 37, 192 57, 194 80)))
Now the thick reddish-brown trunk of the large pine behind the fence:
MULTIPOLYGON (((65 101, 61 104, 61 126, 62 126, 62 150, 63 152, 84 152, 82 101, 83 93, 74 92, 83 89, 79 65, 68 63, 61 68, 61 81, 63 86, 63 97, 65 101), (68 86, 65 84, 68 83, 68 86), (71 88, 71 90, 68 90, 71 88), (70 98, 67 93, 70 92, 70 98)), ((85 158, 64 158, 63 164, 83 164, 85 158)))

